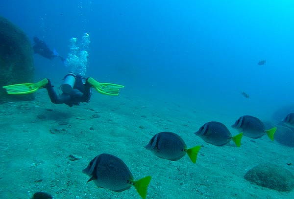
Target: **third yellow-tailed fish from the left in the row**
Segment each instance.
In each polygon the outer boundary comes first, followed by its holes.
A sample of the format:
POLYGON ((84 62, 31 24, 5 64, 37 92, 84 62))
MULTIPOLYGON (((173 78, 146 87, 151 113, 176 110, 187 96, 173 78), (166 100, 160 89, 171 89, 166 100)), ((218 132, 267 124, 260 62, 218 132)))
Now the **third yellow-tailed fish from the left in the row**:
POLYGON ((202 138, 205 142, 215 146, 223 146, 233 140, 237 147, 241 146, 241 139, 243 135, 243 133, 239 133, 232 136, 224 124, 214 121, 205 123, 195 134, 202 138))

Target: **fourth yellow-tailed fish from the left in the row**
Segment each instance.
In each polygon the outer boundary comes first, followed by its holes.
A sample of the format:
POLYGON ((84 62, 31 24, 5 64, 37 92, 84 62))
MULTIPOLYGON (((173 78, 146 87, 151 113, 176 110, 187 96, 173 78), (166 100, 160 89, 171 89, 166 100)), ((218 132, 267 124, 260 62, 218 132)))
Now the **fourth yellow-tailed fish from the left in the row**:
POLYGON ((268 134, 270 140, 273 141, 274 133, 277 128, 273 127, 270 130, 265 130, 264 123, 258 119, 257 117, 253 117, 250 115, 244 115, 240 117, 235 124, 232 125, 232 128, 237 129, 242 132, 244 136, 251 138, 260 138, 265 134, 268 134))

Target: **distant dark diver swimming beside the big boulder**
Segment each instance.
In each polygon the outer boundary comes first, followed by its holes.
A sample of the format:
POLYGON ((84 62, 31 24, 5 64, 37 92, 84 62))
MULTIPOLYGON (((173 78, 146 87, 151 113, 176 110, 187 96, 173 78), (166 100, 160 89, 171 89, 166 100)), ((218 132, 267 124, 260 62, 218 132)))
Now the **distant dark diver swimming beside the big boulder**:
POLYGON ((47 44, 44 41, 40 40, 38 37, 34 37, 33 40, 35 42, 35 44, 33 45, 34 53, 42 55, 43 57, 50 59, 50 60, 52 60, 55 57, 59 57, 62 62, 65 61, 65 59, 63 57, 61 57, 55 49, 51 50, 47 46, 47 44))

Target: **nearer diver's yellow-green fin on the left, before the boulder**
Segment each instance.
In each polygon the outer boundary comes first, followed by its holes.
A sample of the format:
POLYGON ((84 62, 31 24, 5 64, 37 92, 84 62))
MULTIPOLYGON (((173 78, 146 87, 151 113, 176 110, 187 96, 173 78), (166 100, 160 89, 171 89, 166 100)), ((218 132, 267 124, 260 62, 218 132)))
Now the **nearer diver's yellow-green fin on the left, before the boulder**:
POLYGON ((44 87, 47 84, 48 84, 48 79, 45 78, 35 84, 31 84, 31 83, 14 84, 14 85, 4 86, 2 88, 5 88, 8 94, 23 95, 23 94, 33 93, 37 91, 39 88, 44 87))

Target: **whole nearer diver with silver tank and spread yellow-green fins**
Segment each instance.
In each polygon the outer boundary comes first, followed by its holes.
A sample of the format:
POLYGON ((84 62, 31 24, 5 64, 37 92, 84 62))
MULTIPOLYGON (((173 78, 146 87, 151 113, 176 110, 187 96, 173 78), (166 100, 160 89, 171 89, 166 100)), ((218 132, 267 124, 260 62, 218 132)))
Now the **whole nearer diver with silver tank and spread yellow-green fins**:
POLYGON ((45 78, 35 84, 15 84, 4 86, 8 94, 22 95, 37 91, 39 88, 46 88, 50 100, 54 104, 66 104, 69 107, 79 105, 80 102, 89 102, 92 94, 91 87, 94 87, 99 93, 106 95, 119 95, 119 89, 122 85, 111 83, 99 83, 92 77, 84 78, 81 75, 69 73, 64 77, 64 82, 60 86, 62 94, 56 94, 50 80, 45 78))

